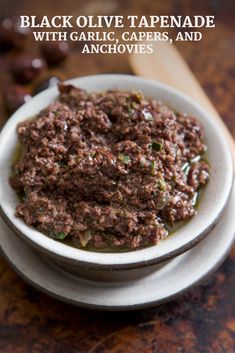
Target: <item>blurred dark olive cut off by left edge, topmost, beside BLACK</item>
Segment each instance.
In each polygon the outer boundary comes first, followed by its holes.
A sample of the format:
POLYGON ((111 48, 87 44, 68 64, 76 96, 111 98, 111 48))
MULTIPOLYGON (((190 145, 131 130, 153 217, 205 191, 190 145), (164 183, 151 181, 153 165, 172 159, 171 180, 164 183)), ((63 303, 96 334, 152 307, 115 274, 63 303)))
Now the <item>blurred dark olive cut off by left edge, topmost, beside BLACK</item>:
POLYGON ((0 51, 5 52, 12 48, 21 48, 29 32, 29 28, 20 27, 20 19, 17 17, 1 19, 0 51))

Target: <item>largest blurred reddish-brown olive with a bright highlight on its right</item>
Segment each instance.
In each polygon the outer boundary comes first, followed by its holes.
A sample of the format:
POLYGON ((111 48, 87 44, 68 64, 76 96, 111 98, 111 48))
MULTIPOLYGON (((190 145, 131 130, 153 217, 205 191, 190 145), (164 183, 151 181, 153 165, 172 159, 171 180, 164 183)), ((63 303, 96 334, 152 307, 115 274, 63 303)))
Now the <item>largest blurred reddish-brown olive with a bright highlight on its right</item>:
POLYGON ((15 82, 25 84, 35 80, 45 68, 43 59, 22 54, 13 60, 11 73, 15 82))

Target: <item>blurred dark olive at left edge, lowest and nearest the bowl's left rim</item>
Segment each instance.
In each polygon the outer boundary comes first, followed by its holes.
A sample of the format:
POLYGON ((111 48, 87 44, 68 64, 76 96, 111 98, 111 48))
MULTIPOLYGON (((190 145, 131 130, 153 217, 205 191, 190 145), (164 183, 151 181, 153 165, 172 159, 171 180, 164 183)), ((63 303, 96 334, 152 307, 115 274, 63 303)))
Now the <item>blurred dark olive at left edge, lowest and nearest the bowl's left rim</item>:
POLYGON ((22 104, 28 102, 30 98, 29 91, 21 85, 9 85, 3 92, 3 103, 8 114, 14 113, 22 104))

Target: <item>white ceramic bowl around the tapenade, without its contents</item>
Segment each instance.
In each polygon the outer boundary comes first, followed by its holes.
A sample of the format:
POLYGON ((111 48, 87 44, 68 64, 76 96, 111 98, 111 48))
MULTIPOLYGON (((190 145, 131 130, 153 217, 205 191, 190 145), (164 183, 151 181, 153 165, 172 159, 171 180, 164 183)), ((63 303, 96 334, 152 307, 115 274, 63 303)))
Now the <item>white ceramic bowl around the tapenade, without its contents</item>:
MULTIPOLYGON (((30 243, 51 262, 57 263, 71 272, 82 272, 85 276, 89 275, 89 271, 95 271, 95 277, 98 276, 97 273, 104 273, 105 278, 106 276, 115 277, 115 273, 119 272, 122 278, 124 272, 130 269, 134 269, 132 271, 134 276, 134 272, 140 273, 140 268, 146 269, 154 264, 162 263, 197 244, 219 220, 228 202, 233 182, 231 152, 217 122, 195 101, 160 82, 128 75, 95 75, 76 78, 68 82, 88 91, 104 91, 116 88, 141 90, 144 95, 161 100, 176 111, 192 114, 202 122, 206 132, 211 178, 203 192, 198 214, 176 234, 168 237, 160 244, 125 253, 99 253, 76 249, 50 239, 36 229, 28 227, 21 219, 16 218, 15 208, 19 200, 8 183, 12 155, 17 143, 16 125, 28 117, 34 116, 56 99, 58 90, 53 87, 38 94, 18 109, 7 121, 1 132, 0 206, 7 223, 23 240, 30 243)), ((221 236, 223 235, 221 234, 221 236)))

